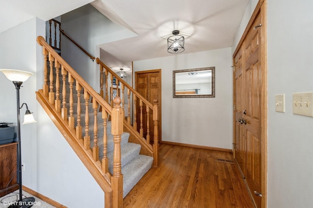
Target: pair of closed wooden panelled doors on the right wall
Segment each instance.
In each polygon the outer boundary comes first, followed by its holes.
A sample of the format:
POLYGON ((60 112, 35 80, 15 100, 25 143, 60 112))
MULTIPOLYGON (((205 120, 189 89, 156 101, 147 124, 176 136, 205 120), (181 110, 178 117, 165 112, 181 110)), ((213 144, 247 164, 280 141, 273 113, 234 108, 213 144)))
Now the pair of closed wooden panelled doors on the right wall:
POLYGON ((261 13, 234 53, 234 158, 257 208, 266 207, 266 111, 261 13))

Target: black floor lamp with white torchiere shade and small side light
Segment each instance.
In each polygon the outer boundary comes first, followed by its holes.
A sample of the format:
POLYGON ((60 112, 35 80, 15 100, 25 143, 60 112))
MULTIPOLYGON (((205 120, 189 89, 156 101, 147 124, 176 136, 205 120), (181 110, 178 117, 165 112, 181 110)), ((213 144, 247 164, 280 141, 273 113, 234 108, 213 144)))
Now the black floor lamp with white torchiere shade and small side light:
MULTIPOLYGON (((25 82, 33 73, 14 70, 14 69, 0 69, 0 71, 13 82, 16 88, 16 101, 17 101, 17 115, 18 115, 18 170, 19 170, 19 186, 20 186, 20 198, 15 203, 12 203, 9 208, 30 208, 35 202, 34 197, 28 197, 22 199, 22 155, 21 155, 21 118, 20 118, 20 109, 25 103, 20 107, 20 88, 23 82, 25 82)), ((36 122, 31 112, 28 110, 27 104, 26 112, 24 116, 23 124, 30 124, 36 122)))

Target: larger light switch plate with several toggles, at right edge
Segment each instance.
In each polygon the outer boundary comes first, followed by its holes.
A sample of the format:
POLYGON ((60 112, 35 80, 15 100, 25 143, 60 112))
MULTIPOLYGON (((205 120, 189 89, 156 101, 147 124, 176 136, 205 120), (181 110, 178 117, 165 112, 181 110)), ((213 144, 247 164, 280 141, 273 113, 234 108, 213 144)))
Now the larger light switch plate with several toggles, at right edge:
POLYGON ((313 117, 313 92, 293 93, 292 113, 313 117))

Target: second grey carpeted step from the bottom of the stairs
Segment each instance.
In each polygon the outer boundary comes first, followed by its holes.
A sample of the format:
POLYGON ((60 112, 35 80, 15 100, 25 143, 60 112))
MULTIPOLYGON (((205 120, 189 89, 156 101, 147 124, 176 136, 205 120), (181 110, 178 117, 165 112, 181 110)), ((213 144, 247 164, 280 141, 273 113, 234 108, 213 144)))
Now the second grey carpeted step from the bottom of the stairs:
MULTIPOLYGON (((135 157, 139 155, 140 145, 134 143, 127 143, 121 146, 121 166, 125 166, 128 162, 133 160, 135 157)), ((109 158, 109 170, 113 172, 113 151, 108 152, 107 154, 109 158)))

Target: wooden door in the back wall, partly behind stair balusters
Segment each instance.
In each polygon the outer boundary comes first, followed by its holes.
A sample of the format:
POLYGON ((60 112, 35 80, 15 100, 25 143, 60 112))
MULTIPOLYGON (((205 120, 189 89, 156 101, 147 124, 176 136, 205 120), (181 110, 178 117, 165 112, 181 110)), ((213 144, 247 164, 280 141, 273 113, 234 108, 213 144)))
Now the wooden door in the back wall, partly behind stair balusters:
MULTIPOLYGON (((141 96, 147 99, 151 104, 154 104, 154 99, 157 98, 159 101, 158 104, 158 120, 159 120, 159 142, 161 141, 161 70, 149 70, 149 71, 140 71, 135 72, 135 89, 141 96)), ((142 110, 140 109, 139 101, 136 102, 136 117, 139 119, 137 125, 137 130, 140 132, 141 125, 143 127, 143 136, 147 138, 147 132, 149 131, 149 135, 151 138, 151 142, 153 142, 154 137, 154 127, 153 127, 153 114, 149 113, 149 128, 147 128, 147 112, 146 106, 143 104, 142 110), (142 112, 142 116, 140 113, 142 112), (142 119, 142 121, 140 121, 142 119)))

